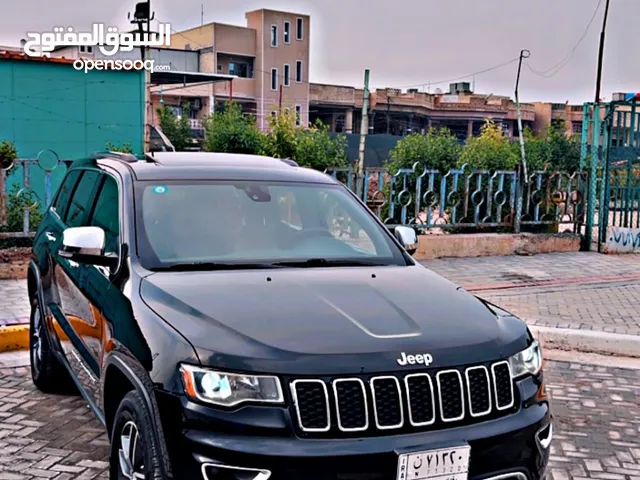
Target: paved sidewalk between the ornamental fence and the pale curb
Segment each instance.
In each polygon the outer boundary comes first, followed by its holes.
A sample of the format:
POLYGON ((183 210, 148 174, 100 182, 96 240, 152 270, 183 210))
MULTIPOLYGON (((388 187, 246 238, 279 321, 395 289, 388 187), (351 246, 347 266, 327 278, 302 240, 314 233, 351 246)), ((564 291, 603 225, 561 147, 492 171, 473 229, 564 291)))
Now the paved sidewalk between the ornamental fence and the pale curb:
POLYGON ((532 325, 640 335, 640 255, 584 252, 422 263, 532 325))

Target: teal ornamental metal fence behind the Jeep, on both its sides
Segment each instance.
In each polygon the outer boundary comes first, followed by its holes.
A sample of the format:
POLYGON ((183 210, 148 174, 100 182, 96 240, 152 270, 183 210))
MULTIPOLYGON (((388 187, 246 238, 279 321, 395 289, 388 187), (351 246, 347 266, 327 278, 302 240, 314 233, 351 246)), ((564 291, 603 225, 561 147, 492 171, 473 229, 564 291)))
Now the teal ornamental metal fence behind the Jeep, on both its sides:
MULTIPOLYGON (((34 217, 51 202, 69 162, 46 151, 0 170, 0 239, 33 236, 34 217)), ((355 190, 352 168, 327 173, 355 190)), ((443 174, 416 163, 395 173, 365 169, 362 198, 386 224, 411 225, 421 232, 519 232, 546 226, 579 233, 588 183, 586 172, 536 171, 523 182, 517 171, 463 166, 443 174)))

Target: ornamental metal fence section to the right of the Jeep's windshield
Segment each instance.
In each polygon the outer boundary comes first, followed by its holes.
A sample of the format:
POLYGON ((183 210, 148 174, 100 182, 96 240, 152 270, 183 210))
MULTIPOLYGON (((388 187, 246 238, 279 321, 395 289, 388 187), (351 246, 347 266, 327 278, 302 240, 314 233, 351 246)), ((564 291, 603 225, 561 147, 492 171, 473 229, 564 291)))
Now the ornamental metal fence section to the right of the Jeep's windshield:
MULTIPOLYGON (((326 171, 355 191, 352 168, 326 171)), ((579 233, 584 223, 586 172, 532 172, 462 166, 443 174, 416 163, 395 173, 365 169, 362 199, 389 225, 420 231, 535 229, 548 226, 579 233)))

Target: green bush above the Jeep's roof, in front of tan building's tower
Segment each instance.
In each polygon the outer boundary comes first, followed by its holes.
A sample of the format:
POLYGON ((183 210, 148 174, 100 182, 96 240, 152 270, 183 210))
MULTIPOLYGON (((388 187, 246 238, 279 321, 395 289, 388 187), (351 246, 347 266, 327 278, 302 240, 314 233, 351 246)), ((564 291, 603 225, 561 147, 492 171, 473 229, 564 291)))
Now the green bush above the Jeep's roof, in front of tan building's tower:
POLYGON ((203 125, 204 149, 209 152, 260 155, 264 151, 264 134, 236 102, 225 104, 222 111, 205 118, 203 125))

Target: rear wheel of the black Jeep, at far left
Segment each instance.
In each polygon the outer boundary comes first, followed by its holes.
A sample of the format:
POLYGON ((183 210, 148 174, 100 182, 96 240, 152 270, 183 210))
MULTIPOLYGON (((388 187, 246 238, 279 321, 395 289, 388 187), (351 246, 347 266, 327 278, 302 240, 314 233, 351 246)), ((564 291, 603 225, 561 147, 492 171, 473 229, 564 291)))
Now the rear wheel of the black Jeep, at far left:
POLYGON ((71 377, 51 350, 42 308, 37 298, 31 302, 29 358, 31 378, 38 390, 45 393, 69 393, 71 391, 71 377))

